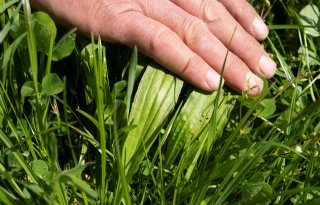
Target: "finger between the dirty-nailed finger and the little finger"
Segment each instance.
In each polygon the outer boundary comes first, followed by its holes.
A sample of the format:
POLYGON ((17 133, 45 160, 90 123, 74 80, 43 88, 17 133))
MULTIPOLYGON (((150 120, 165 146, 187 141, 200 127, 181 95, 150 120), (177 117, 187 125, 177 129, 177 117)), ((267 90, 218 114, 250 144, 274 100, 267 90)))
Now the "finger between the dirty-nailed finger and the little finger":
MULTIPOLYGON (((199 10, 208 27, 231 51, 237 55, 257 75, 271 78, 276 72, 276 64, 263 50, 258 41, 231 16, 219 2, 207 1, 206 9, 199 10), (219 20, 212 21, 214 10, 224 10, 219 20), (225 13, 225 14, 224 14, 225 13), (233 35, 234 33, 234 35, 233 35)), ((235 1, 238 2, 238 1, 235 1)), ((250 8, 252 8, 250 6, 250 8)), ((215 18, 217 19, 217 17, 215 18)))

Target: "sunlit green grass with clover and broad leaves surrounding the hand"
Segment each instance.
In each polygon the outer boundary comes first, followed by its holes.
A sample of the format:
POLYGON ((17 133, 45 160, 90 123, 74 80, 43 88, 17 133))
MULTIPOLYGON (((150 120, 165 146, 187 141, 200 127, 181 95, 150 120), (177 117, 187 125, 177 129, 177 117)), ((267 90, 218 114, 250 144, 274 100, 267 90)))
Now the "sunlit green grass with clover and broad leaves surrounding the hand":
POLYGON ((0 0, 0 203, 319 204, 319 2, 251 3, 279 66, 256 98, 0 0))

